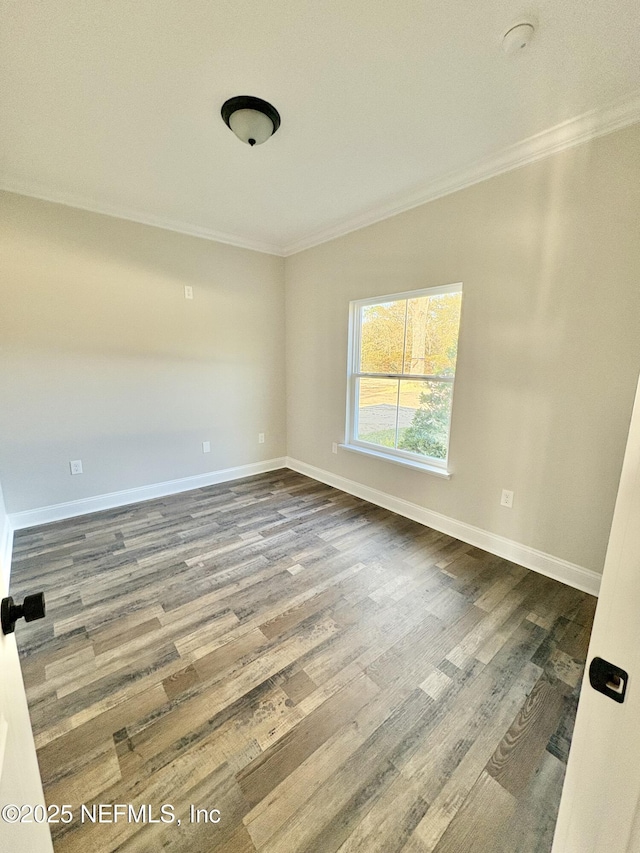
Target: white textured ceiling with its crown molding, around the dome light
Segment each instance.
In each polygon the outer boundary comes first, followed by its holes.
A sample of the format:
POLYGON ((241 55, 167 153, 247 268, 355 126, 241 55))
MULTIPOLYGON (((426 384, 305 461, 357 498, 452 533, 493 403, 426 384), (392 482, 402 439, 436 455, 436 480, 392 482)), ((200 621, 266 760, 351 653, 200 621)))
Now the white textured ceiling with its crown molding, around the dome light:
POLYGON ((637 0, 0 0, 0 19, 0 186, 276 254, 640 120, 637 0), (506 55, 522 18, 535 37, 506 55), (282 116, 264 145, 220 118, 239 94, 282 116))

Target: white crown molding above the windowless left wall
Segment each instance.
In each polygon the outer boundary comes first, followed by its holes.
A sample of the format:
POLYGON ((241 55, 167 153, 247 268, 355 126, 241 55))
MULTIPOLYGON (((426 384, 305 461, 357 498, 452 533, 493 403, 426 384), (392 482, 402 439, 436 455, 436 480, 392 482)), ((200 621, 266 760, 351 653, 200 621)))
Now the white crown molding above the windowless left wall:
POLYGON ((191 222, 182 222, 179 219, 170 219, 164 216, 155 216, 152 213, 144 213, 139 210, 119 207, 118 205, 103 204, 83 196, 73 195, 45 187, 42 184, 23 181, 8 175, 0 176, 0 190, 37 198, 40 201, 50 201, 54 204, 63 204, 65 207, 74 207, 79 210, 87 210, 90 213, 100 213, 103 216, 112 216, 116 219, 126 219, 129 222, 138 222, 140 225, 152 225, 154 228, 164 228, 165 231, 176 231, 178 234, 188 234, 190 237, 201 237, 204 240, 214 240, 216 243, 226 243, 239 249, 251 249, 254 252, 263 252, 267 255, 278 255, 282 257, 282 247, 274 243, 264 243, 261 240, 251 240, 240 237, 237 234, 227 234, 224 231, 216 231, 212 228, 204 228, 191 222))

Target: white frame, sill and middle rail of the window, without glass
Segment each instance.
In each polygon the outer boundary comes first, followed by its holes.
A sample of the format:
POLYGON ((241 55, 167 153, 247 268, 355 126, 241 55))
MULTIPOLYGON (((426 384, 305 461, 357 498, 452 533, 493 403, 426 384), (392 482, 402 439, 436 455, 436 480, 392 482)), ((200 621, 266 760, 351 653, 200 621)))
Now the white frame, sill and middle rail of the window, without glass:
MULTIPOLYGON (((345 429, 345 443, 341 445, 345 450, 354 450, 378 459, 386 459, 389 462, 399 463, 410 468, 427 471, 439 477, 449 479, 449 439, 451 435, 451 422, 453 421, 453 396, 455 393, 455 373, 453 377, 433 376, 430 374, 411 373, 363 373, 360 367, 360 345, 362 330, 362 310, 370 305, 382 305, 387 302, 400 302, 401 300, 418 299, 424 296, 439 296, 443 293, 462 293, 462 282, 455 284, 439 285, 437 287, 426 287, 422 290, 410 290, 403 293, 392 293, 387 296, 376 296, 368 299, 358 299, 349 303, 349 350, 347 366, 347 417, 345 429), (447 433, 447 456, 445 459, 436 459, 432 456, 423 456, 408 450, 400 450, 395 447, 382 447, 357 438, 358 435, 358 390, 360 379, 407 379, 428 380, 431 382, 447 382, 452 386, 451 417, 449 419, 449 431, 447 433)), ((459 331, 458 331, 459 338, 459 331)), ((405 328, 406 340, 406 328, 405 328)), ((456 364, 457 369, 457 364, 456 364)), ((457 370, 456 370, 457 372, 457 370)), ((398 383, 398 393, 400 392, 398 383)))

